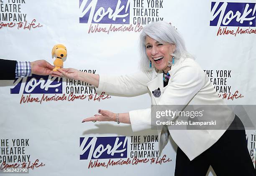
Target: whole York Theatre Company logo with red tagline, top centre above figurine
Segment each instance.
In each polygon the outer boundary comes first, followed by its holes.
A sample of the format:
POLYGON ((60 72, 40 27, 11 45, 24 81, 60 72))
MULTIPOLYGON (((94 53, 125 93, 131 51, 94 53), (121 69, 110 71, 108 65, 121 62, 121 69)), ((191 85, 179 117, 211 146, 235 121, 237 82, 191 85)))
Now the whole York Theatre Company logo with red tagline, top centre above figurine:
POLYGON ((90 24, 88 33, 140 32, 142 25, 164 20, 162 8, 163 0, 79 0, 79 23, 90 24))

